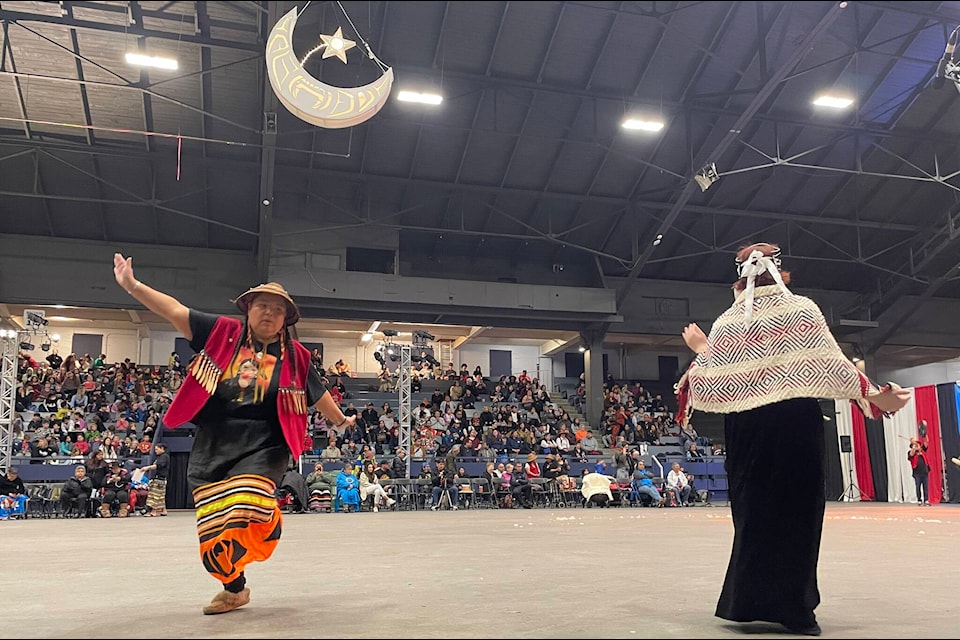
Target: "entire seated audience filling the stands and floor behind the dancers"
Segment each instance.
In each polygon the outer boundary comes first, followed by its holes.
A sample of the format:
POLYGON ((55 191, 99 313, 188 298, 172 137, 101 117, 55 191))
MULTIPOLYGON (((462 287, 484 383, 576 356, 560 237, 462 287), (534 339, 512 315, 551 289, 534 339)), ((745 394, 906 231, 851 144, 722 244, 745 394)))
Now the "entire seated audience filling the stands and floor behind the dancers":
MULTIPOLYGON (((147 505, 149 479, 141 480, 144 474, 137 473, 137 468, 131 473, 125 468, 130 465, 125 463, 139 463, 150 459, 152 454, 166 452, 162 445, 160 449, 154 447, 154 435, 173 395, 183 383, 184 366, 176 352, 171 353, 166 367, 138 366, 129 359, 108 364, 105 358, 103 354, 96 358, 75 354, 62 358, 56 350, 39 360, 29 352, 20 354, 17 417, 13 423, 15 464, 75 465, 75 477, 64 484, 61 492, 65 514, 75 517, 165 514, 165 505, 156 509, 147 505), (119 468, 116 474, 111 474, 114 463, 119 468), (113 492, 104 504, 109 478, 114 480, 113 492), (143 485, 138 487, 138 482, 143 485)), ((338 431, 327 423, 321 412, 312 411, 308 451, 312 450, 314 438, 326 439, 325 448, 313 450, 321 459, 318 464, 350 462, 354 465, 352 474, 358 480, 359 501, 373 495, 377 509, 381 505, 392 506, 395 498, 380 484, 361 482, 365 475, 368 480, 387 480, 401 477, 405 472, 405 467, 402 471, 399 469, 397 461, 403 461, 407 452, 397 453, 400 425, 391 404, 384 402, 377 408, 367 403, 356 407, 347 400, 352 394, 343 382, 352 375, 349 366, 341 359, 325 371, 322 359, 314 357, 312 363, 321 373, 324 384, 340 399, 344 415, 355 416, 355 421, 338 431), (395 457, 387 460, 392 454, 396 454, 395 457), (382 459, 379 463, 378 456, 382 459), (370 467, 369 473, 366 473, 367 467, 370 467)), ((457 369, 448 363, 436 371, 425 370, 423 375, 449 382, 449 386, 424 396, 413 411, 410 457, 442 463, 426 465, 424 473, 431 479, 452 475, 443 479, 442 488, 453 494, 448 495, 453 506, 461 504, 456 481, 469 477, 461 466, 465 460, 489 463, 490 486, 498 487, 512 498, 515 496, 508 504, 530 506, 531 489, 526 484, 528 458, 537 456, 546 457, 542 471, 534 463, 537 476, 542 473, 545 478, 559 478, 558 483, 562 484, 567 482, 570 461, 590 461, 591 472, 609 474, 624 486, 633 482, 633 497, 649 495, 655 504, 670 504, 665 497, 667 492, 653 486, 648 471, 637 472, 642 445, 659 443, 659 438, 665 435, 684 437, 684 449, 703 441, 692 427, 680 429, 662 398, 650 394, 639 383, 621 385, 612 377, 605 381, 604 419, 600 432, 595 433, 581 418, 571 417, 553 403, 545 385, 526 371, 490 380, 484 377, 479 366, 470 369, 464 363, 457 369), (609 466, 601 462, 594 469, 592 461, 614 445, 616 449, 608 457, 609 466), (453 457, 451 452, 455 452, 453 457), (512 468, 514 464, 516 470, 512 468)), ((414 378, 415 383, 419 382, 420 375, 415 374, 414 378)), ((419 385, 416 390, 420 390, 419 385)), ((166 455, 166 464, 168 460, 166 455)), ((157 476, 155 465, 155 473, 151 475, 157 476)), ((151 466, 144 468, 150 470, 151 466)), ((316 475, 308 478, 307 484, 310 485, 311 480, 313 484, 322 483, 321 478, 326 478, 331 486, 336 486, 341 473, 338 469, 331 474, 316 475)), ((160 475, 163 477, 155 477, 158 480, 155 485, 165 485, 166 469, 160 475)), ((570 487, 574 484, 571 482, 570 487)), ((439 484, 437 489, 439 497, 439 484)), ((685 498, 677 496, 676 502, 687 502, 685 498)), ((317 504, 316 499, 313 502, 317 504)), ((326 508, 330 501, 321 502, 326 508)), ((436 501, 428 500, 428 504, 433 502, 436 501)))

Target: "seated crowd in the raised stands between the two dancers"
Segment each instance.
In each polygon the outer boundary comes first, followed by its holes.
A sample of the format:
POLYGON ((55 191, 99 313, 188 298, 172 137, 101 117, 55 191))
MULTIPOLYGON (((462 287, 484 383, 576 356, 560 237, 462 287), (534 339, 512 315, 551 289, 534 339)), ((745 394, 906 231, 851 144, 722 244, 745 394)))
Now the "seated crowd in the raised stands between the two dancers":
MULTIPOLYGON (((681 429, 662 397, 640 383, 621 385, 609 377, 604 382, 603 419, 594 429, 554 403, 546 386, 526 371, 488 380, 479 366, 471 371, 463 364, 458 371, 451 363, 440 379, 449 386, 431 385, 435 387, 432 394, 421 394, 412 410, 410 453, 416 459, 443 457, 458 445, 463 457, 480 461, 506 462, 530 453, 586 460, 623 446, 645 453, 646 445, 658 445, 665 436, 679 437, 688 459, 702 456, 703 451, 722 451, 712 449, 711 441, 699 436, 692 425, 681 429)), ((335 379, 331 389, 339 384, 335 379)), ((412 391, 418 393, 420 388, 412 391)), ((345 390, 342 393, 349 396, 345 390)), ((342 402, 344 414, 356 417, 355 424, 338 431, 322 416, 313 415, 311 436, 327 443, 314 449, 314 454, 325 460, 356 461, 366 448, 374 455, 396 450, 400 426, 390 402, 380 407, 372 402, 359 407, 349 398, 342 402)))

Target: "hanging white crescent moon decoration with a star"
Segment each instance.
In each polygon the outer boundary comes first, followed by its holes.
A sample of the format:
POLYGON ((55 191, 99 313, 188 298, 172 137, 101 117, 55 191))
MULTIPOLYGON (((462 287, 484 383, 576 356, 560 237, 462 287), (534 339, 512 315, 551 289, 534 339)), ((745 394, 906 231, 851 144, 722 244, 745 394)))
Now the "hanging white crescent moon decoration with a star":
POLYGON ((337 29, 332 36, 321 36, 323 44, 300 62, 293 52, 293 30, 298 17, 294 7, 277 21, 267 38, 267 76, 280 103, 304 122, 325 129, 345 129, 375 116, 390 96, 393 69, 377 59, 364 42, 368 57, 383 71, 379 78, 360 87, 320 82, 304 70, 303 62, 321 47, 326 48, 324 58, 336 56, 346 62, 346 51, 355 43, 343 38, 342 31, 337 29))

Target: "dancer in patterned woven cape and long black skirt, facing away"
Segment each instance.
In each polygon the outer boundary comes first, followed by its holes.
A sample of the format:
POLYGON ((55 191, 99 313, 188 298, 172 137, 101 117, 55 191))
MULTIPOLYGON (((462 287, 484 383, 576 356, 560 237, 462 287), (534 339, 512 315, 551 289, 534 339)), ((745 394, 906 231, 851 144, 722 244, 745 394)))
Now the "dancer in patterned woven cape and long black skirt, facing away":
POLYGON ((736 262, 735 301, 710 335, 696 324, 683 330, 697 356, 676 386, 683 424, 694 409, 725 414, 734 539, 716 615, 820 635, 814 609, 825 495, 817 398, 849 398, 880 417, 903 407, 910 392, 878 388, 843 355, 816 303, 787 289, 776 245, 745 247, 736 262))

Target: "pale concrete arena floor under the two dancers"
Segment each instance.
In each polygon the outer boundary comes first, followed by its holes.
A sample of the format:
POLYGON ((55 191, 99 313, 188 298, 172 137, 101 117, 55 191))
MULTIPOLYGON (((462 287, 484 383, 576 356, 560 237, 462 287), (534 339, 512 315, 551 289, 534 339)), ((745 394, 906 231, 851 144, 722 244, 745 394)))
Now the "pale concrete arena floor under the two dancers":
MULTIPOLYGON (((192 512, 0 522, 2 635, 785 637, 713 616, 732 537, 723 506, 291 515, 251 603, 203 616, 192 512)), ((960 638, 958 552, 960 506, 828 504, 824 636, 960 638)))

